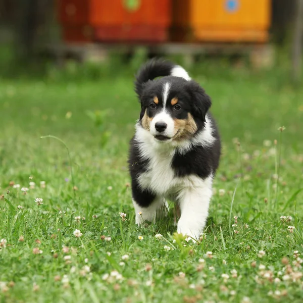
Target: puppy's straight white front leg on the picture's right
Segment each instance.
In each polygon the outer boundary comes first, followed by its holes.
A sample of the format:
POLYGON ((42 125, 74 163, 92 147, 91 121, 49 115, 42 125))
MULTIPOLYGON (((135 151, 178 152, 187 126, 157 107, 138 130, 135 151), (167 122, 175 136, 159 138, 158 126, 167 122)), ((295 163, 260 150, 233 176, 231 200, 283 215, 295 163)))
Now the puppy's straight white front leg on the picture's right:
POLYGON ((181 217, 177 225, 178 233, 198 239, 203 232, 208 217, 211 187, 187 187, 179 194, 181 217))

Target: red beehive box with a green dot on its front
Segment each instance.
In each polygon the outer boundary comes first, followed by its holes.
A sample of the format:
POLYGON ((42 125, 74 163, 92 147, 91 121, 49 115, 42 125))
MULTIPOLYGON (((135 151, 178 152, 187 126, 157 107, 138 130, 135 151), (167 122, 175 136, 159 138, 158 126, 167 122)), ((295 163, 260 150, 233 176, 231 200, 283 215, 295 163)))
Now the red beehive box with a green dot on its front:
POLYGON ((59 19, 66 41, 168 39, 171 0, 61 0, 59 19))

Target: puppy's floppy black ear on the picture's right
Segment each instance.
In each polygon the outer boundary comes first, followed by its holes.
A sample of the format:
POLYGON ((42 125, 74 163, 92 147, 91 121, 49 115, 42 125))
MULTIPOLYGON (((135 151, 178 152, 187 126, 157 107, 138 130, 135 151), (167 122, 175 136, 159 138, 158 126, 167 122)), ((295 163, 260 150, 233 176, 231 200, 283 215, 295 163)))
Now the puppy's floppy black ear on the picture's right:
POLYGON ((188 92, 191 96, 192 114, 194 117, 206 121, 205 116, 212 105, 210 96, 196 82, 188 81, 188 92))

